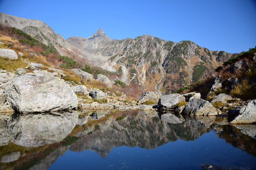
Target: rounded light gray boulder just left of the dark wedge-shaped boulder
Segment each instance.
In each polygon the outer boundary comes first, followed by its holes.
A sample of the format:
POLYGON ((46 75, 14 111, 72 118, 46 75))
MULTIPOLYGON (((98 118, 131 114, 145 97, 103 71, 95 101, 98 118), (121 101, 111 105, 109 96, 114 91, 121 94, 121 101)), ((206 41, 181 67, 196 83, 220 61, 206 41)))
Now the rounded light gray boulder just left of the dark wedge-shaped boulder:
POLYGON ((164 95, 159 99, 157 105, 161 109, 172 109, 182 100, 185 101, 185 97, 180 94, 164 95))

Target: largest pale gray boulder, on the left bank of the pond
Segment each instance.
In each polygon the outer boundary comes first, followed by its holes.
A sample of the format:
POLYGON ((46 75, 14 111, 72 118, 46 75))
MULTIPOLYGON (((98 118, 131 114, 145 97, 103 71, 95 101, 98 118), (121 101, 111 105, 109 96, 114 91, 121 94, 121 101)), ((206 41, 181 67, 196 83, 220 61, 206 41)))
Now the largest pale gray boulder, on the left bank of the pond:
POLYGON ((41 72, 16 77, 5 88, 6 101, 14 110, 47 112, 77 106, 76 94, 64 80, 41 72))

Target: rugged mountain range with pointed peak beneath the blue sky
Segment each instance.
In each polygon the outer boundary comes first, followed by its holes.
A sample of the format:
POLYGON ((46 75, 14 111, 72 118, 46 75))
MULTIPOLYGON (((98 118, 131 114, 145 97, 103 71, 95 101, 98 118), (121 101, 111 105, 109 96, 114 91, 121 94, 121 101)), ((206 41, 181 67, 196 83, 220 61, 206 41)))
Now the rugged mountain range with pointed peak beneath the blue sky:
POLYGON ((73 55, 92 66, 120 72, 126 84, 139 83, 144 90, 161 93, 215 76, 215 68, 238 55, 210 51, 192 41, 175 43, 152 35, 112 40, 101 28, 88 38, 72 36, 65 40, 43 21, 4 13, 0 13, 0 23, 21 29, 54 47, 60 55, 73 55))

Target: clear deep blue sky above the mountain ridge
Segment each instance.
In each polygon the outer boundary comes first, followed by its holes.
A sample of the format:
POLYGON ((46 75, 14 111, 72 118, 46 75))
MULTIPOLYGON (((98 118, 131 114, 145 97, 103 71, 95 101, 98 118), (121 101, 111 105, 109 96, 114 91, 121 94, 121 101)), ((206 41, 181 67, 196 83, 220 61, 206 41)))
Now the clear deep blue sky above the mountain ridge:
POLYGON ((0 0, 0 12, 42 20, 65 39, 102 28, 112 39, 147 34, 230 53, 256 45, 255 0, 0 0))

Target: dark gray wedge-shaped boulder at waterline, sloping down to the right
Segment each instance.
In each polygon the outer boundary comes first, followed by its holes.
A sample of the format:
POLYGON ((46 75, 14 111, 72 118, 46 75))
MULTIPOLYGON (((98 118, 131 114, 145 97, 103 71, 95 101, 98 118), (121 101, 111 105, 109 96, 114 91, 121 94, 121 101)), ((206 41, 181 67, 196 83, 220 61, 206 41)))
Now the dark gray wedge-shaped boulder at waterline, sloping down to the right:
POLYGON ((188 102, 182 113, 190 116, 213 116, 221 112, 219 109, 213 107, 210 102, 204 99, 194 98, 188 102))

